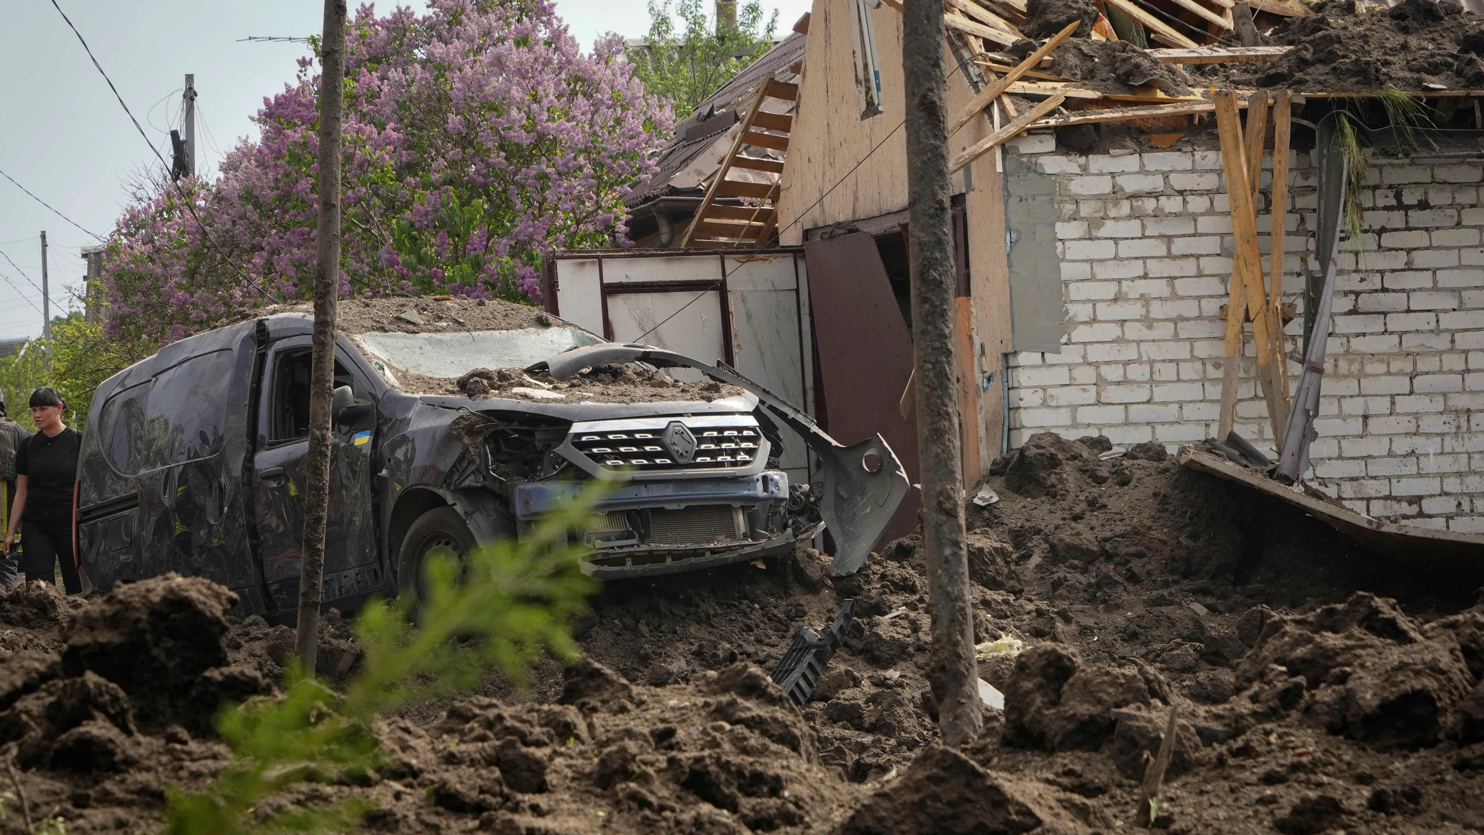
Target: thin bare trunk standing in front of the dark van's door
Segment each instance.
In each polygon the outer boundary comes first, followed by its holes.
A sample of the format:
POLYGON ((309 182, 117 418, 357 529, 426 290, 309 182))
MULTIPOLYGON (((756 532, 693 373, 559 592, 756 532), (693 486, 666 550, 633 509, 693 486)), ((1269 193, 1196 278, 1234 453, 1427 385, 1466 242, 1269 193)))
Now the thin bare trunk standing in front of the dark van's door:
POLYGON ((315 264, 315 353, 309 375, 309 452, 304 454, 304 540, 298 575, 298 660, 315 673, 319 604, 329 515, 329 403, 335 386, 335 307, 340 297, 340 122, 344 90, 346 0, 325 0, 319 65, 319 230, 315 264))

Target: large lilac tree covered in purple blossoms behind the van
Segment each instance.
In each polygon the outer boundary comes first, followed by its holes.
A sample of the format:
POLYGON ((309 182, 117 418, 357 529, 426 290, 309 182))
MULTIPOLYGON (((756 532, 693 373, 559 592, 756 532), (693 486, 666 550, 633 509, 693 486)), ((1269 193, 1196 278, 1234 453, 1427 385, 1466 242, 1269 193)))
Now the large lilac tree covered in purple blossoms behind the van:
MULTIPOLYGON (((300 59, 217 182, 159 184, 125 211, 104 270, 113 334, 163 344, 269 294, 307 297, 319 83, 300 59)), ((539 300, 542 249, 629 243, 622 197, 672 129, 622 40, 583 53, 546 0, 362 6, 344 85, 346 295, 539 300)))

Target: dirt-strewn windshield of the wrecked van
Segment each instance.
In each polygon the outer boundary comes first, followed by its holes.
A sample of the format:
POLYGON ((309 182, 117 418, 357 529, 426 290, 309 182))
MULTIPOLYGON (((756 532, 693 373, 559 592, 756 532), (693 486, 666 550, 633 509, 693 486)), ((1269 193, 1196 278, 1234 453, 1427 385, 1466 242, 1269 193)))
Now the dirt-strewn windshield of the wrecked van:
POLYGON ((525 368, 603 340, 580 328, 525 328, 456 334, 368 332, 355 337, 371 359, 424 377, 462 377, 475 368, 525 368))

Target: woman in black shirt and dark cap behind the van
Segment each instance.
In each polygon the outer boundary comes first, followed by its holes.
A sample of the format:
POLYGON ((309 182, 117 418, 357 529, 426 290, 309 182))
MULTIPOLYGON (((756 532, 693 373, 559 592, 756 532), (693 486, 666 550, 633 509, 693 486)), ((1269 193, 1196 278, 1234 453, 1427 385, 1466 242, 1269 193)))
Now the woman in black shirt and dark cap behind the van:
POLYGON ((62 423, 64 411, 67 403, 56 389, 42 386, 31 392, 31 421, 39 432, 16 449, 15 504, 4 549, 10 550, 16 524, 22 524, 25 581, 53 581, 53 567, 61 562, 62 584, 68 595, 77 595, 83 587, 73 547, 73 488, 83 436, 62 423))

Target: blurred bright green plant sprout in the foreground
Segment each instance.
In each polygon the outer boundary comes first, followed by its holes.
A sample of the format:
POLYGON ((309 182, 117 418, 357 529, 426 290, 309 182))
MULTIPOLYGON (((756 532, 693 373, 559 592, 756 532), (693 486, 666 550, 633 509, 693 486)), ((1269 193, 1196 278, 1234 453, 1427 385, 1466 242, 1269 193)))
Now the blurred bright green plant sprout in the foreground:
POLYGON ((260 808, 295 783, 359 783, 378 764, 371 724, 414 699, 442 697, 491 670, 527 687, 527 669, 546 651, 564 660, 580 651, 567 627, 586 611, 597 583, 582 574, 586 547, 574 531, 591 527, 594 507, 616 486, 595 481, 522 540, 500 540, 457 561, 430 553, 426 595, 414 626, 413 604, 368 604, 356 620, 364 669, 344 693, 294 660, 280 699, 227 706, 217 730, 232 761, 202 791, 168 789, 171 835, 343 832, 371 808, 367 798, 324 807, 260 808))

